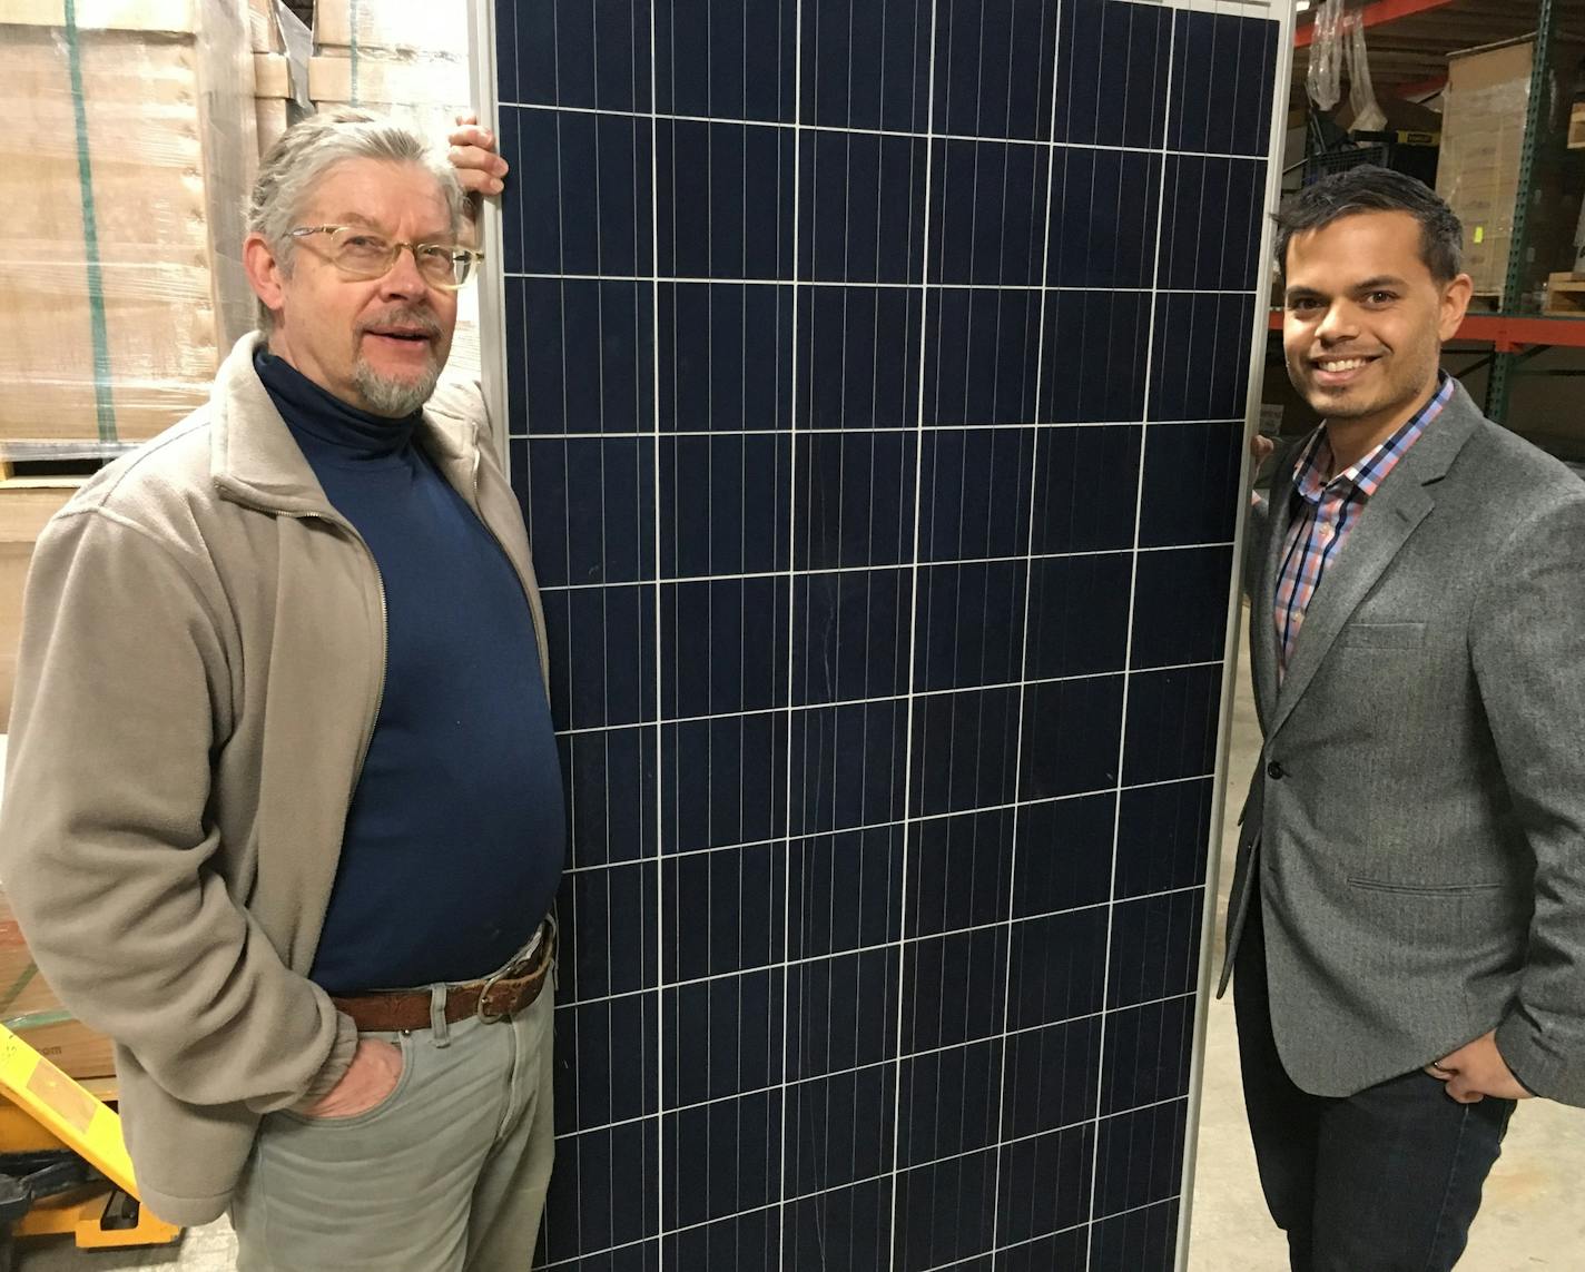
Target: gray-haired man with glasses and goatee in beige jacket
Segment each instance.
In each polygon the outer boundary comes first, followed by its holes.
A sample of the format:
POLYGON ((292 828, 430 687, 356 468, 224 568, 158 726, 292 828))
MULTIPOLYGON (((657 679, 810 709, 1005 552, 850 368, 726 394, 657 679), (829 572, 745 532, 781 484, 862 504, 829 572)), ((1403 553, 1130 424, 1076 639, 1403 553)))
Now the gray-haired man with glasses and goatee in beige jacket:
POLYGON ((463 206, 403 128, 287 131, 262 331, 29 580, 0 873, 144 1201, 243 1269, 526 1267, 550 1174, 544 624, 477 394, 425 406, 463 206))

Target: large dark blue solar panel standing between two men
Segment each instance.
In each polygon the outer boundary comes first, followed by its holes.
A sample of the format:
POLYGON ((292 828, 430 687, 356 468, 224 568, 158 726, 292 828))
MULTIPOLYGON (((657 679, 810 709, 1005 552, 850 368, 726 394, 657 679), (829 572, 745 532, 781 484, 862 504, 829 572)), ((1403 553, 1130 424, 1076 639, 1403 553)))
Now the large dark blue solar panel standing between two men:
POLYGON ((1173 1266, 1285 22, 483 16, 572 822, 539 1266, 1173 1266))

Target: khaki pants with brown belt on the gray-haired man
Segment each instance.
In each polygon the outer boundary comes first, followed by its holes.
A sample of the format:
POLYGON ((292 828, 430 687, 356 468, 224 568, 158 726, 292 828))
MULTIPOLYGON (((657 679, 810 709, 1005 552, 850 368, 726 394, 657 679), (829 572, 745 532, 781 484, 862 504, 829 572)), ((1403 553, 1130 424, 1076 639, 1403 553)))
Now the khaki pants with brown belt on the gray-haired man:
POLYGON ((528 1272, 555 1152, 552 1011, 547 984, 510 1020, 366 1034, 401 1047, 384 1103, 268 1115, 231 1199, 238 1272, 528 1272))

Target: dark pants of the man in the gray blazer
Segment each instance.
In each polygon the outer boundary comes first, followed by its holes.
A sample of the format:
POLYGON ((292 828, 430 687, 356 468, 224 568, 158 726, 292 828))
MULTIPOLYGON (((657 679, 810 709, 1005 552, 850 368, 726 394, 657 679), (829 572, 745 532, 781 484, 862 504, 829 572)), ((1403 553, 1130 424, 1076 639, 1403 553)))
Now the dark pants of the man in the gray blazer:
POLYGON ((1271 1034, 1260 901, 1233 979, 1260 1186, 1293 1272, 1446 1272, 1465 1251, 1514 1101, 1458 1104, 1419 1069, 1346 1099, 1301 1091, 1271 1034))

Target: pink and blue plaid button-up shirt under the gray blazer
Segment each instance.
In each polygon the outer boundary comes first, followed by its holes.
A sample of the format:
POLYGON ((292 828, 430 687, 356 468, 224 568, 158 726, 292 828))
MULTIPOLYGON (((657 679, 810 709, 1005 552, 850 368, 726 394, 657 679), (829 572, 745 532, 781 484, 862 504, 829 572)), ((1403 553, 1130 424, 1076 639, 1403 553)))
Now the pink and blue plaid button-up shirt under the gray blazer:
POLYGON ((1444 372, 1431 401, 1354 467, 1330 480, 1327 474, 1331 472, 1331 444, 1327 440, 1327 426, 1317 428, 1304 444, 1293 472, 1293 516, 1282 540, 1282 562, 1278 569, 1279 675, 1287 672, 1300 627, 1304 626, 1304 611, 1320 588, 1327 567, 1342 551, 1342 543, 1354 523, 1360 520, 1366 501, 1452 396, 1453 380, 1444 372))

